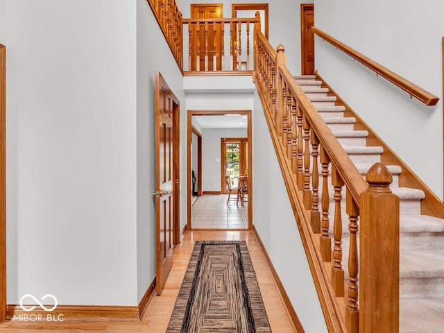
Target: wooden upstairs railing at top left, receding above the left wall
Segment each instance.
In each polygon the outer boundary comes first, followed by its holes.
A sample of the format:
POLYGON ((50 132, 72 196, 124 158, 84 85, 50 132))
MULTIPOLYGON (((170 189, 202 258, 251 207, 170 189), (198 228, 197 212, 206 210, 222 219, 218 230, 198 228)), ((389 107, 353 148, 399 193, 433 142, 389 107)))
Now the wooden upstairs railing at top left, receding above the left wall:
POLYGON ((182 36, 182 12, 180 12, 176 0, 147 0, 157 23, 164 34, 165 40, 173 53, 174 59, 183 70, 183 36, 182 36))

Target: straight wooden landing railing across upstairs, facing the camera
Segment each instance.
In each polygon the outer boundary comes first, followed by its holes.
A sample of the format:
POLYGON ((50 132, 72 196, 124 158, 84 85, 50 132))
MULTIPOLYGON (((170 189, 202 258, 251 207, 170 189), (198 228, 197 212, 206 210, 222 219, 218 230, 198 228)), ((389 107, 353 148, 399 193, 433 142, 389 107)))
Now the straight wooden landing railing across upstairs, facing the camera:
POLYGON ((183 19, 182 22, 188 26, 188 71, 199 72, 196 75, 202 75, 203 71, 211 71, 212 75, 216 71, 251 74, 250 31, 260 25, 259 12, 249 18, 183 19), (225 43, 225 36, 229 36, 230 43, 225 43))

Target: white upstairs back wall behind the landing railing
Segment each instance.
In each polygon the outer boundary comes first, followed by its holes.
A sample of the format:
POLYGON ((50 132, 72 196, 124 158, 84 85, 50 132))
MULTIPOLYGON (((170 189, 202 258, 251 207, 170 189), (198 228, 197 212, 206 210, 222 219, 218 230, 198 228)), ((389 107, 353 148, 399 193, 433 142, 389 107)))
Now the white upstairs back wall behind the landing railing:
MULTIPOLYGON (((191 3, 199 2, 193 0, 176 1, 184 18, 190 17, 191 3)), ((231 17, 232 1, 216 2, 223 3, 223 17, 231 17)), ((243 0, 239 3, 257 3, 257 0, 243 0)), ((268 1, 268 39, 274 48, 278 47, 279 44, 284 45, 285 51, 289 55, 287 56, 287 66, 295 75, 300 74, 300 3, 313 3, 313 0, 268 1)), ((184 31, 184 43, 187 46, 187 27, 184 28, 184 31)), ((185 62, 187 62, 187 59, 185 59, 185 62)))

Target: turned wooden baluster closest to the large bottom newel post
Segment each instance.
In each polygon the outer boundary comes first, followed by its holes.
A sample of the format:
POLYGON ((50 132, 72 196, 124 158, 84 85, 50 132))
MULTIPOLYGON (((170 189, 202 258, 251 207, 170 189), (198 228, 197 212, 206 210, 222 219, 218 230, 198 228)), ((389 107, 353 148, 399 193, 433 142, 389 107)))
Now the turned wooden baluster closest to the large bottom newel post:
POLYGON ((348 191, 348 189, 347 189, 347 214, 348 214, 348 220, 350 221, 350 223, 348 223, 348 230, 350 231, 350 247, 348 253, 349 281, 348 281, 348 303, 347 307, 345 308, 345 325, 347 325, 348 332, 357 333, 359 332, 359 307, 358 307, 359 259, 358 259, 358 245, 357 245, 357 233, 359 230, 359 225, 358 225, 359 207, 352 199, 352 196, 348 191))

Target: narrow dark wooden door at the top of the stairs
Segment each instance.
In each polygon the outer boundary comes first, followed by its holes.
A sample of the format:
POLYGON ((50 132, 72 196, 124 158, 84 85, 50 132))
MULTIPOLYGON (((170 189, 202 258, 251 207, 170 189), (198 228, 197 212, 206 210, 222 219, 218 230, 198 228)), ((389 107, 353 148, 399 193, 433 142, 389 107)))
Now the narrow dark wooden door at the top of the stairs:
POLYGON ((301 3, 300 5, 300 41, 301 41, 301 74, 314 74, 314 26, 313 3, 301 3))

